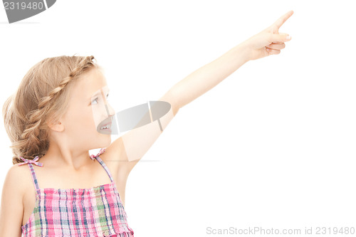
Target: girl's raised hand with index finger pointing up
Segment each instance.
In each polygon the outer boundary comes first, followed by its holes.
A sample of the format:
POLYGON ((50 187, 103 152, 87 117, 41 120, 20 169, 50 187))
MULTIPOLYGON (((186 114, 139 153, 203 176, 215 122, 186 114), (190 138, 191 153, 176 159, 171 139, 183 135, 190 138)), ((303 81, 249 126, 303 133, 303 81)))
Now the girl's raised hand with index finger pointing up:
POLYGON ((288 33, 278 33, 278 30, 292 15, 293 11, 288 11, 271 26, 242 43, 248 48, 248 60, 281 53, 281 49, 286 47, 284 42, 290 41, 291 38, 287 38, 288 33))

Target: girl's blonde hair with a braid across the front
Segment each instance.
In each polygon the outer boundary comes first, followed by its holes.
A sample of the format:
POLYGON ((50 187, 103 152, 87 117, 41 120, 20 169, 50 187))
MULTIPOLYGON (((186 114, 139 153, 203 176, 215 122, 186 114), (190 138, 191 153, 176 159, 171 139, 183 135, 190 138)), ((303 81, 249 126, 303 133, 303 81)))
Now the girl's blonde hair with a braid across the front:
POLYGON ((45 58, 28 70, 2 109, 14 153, 13 164, 23 162, 19 157, 33 159, 46 154, 50 135, 47 122, 57 122, 66 113, 75 79, 93 68, 102 70, 93 59, 94 56, 45 58))

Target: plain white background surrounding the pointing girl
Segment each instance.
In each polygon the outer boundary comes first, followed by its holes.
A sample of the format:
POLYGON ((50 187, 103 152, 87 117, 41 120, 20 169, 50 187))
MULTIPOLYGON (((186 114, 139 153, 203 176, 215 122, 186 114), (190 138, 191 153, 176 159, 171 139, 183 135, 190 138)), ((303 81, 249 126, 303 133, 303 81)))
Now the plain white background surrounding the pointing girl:
MULTIPOLYGON (((1 107, 35 63, 75 53, 105 68, 117 111, 158 100, 293 10, 281 54, 249 61, 182 107, 132 169, 128 223, 137 237, 356 227, 354 5, 58 0, 11 24, 1 9, 1 107)), ((1 122, 2 189, 12 152, 1 122)))

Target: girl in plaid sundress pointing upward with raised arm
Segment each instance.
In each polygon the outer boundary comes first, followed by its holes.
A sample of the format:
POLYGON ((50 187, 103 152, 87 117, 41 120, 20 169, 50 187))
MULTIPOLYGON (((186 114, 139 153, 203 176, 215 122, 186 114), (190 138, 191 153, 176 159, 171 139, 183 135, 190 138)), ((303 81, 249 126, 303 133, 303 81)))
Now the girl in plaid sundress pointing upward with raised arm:
POLYGON ((162 124, 152 122, 112 143, 110 134, 96 130, 92 116, 92 110, 100 120, 114 115, 105 97, 108 90, 102 89, 108 88, 102 68, 94 57, 59 56, 34 65, 3 107, 16 165, 4 182, 0 236, 134 236, 124 209, 132 168, 180 107, 248 60, 279 54, 290 36, 278 30, 292 14, 289 11, 174 85, 160 99, 171 105, 162 124), (93 100, 99 90, 105 95, 101 101, 93 100), (108 109, 96 110, 103 102, 108 109), (106 148, 89 155, 98 147, 106 148))

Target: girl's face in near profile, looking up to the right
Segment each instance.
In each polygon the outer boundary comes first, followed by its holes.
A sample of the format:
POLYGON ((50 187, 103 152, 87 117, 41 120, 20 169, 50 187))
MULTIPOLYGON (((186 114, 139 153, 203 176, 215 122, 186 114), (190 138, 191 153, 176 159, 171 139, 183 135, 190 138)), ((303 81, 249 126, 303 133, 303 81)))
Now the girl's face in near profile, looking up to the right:
POLYGON ((78 78, 70 93, 68 111, 63 118, 63 132, 66 132, 66 139, 70 142, 68 145, 76 144, 87 149, 110 145, 110 132, 99 130, 115 115, 107 101, 108 94, 108 85, 100 70, 90 70, 78 78))

